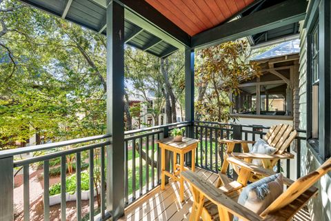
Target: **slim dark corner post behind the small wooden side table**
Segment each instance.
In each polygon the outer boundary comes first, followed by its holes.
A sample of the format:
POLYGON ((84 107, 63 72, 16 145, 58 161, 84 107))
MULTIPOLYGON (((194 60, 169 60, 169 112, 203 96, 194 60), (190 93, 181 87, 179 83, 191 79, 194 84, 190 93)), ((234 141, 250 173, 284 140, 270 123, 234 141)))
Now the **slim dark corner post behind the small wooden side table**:
MULTIPOLYGON (((188 126, 188 137, 194 137, 194 50, 185 50, 185 121, 191 122, 188 126)), ((192 164, 192 153, 186 154, 186 164, 192 164)))

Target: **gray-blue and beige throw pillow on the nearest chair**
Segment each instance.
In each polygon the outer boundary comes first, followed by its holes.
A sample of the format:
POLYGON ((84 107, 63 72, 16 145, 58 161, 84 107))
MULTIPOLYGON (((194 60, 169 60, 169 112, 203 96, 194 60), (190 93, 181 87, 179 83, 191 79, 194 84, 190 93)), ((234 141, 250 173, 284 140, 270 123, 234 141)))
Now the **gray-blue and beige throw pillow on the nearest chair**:
MULTIPOLYGON (((254 213, 261 214, 283 193, 283 175, 277 173, 253 182, 241 191, 238 203, 254 213)), ((239 218, 234 217, 234 221, 239 218)))

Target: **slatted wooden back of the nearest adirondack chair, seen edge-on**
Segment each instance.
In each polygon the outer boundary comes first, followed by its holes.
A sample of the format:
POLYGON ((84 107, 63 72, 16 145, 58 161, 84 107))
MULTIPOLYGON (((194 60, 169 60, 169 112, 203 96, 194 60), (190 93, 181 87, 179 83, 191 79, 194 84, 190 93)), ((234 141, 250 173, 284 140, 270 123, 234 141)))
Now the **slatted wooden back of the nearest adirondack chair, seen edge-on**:
POLYGON ((293 182, 293 184, 290 185, 288 189, 279 196, 279 198, 274 200, 274 202, 272 202, 272 204, 270 204, 270 206, 268 206, 268 208, 261 213, 261 216, 274 213, 282 209, 284 206, 288 206, 294 202, 294 200, 298 199, 303 193, 305 193, 305 191, 308 191, 308 189, 310 189, 310 187, 314 185, 314 183, 317 182, 321 176, 325 175, 325 173, 328 173, 329 171, 331 171, 331 158, 321 165, 317 171, 300 177, 297 181, 293 182))

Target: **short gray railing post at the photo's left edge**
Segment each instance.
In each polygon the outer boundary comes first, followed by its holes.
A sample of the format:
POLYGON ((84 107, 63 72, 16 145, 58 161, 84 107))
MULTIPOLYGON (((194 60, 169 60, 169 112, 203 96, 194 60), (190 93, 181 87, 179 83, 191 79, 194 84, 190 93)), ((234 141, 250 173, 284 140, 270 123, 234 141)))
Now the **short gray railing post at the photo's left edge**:
POLYGON ((14 220, 13 157, 0 159, 0 221, 14 220))

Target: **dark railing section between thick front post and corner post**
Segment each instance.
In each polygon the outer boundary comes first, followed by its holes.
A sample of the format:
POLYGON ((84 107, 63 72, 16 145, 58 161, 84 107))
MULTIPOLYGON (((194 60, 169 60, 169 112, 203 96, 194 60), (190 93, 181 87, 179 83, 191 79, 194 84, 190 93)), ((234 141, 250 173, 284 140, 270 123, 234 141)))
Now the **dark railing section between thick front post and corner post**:
MULTIPOLYGON (((125 201, 131 204, 161 184, 161 151, 156 143, 168 137, 173 128, 187 128, 190 122, 178 122, 150 128, 127 131, 125 137, 125 201)), ((186 133, 186 132, 185 132, 186 133)), ((172 157, 167 153, 168 169, 172 157)))

